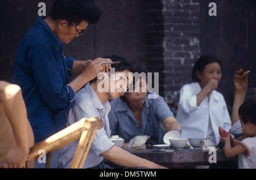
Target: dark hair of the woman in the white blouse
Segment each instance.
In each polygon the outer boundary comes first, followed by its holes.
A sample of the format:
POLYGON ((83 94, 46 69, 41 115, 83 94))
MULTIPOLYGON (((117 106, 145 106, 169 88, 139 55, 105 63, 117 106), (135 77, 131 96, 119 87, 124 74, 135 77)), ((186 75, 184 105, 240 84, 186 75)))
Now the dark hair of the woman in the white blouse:
POLYGON ((196 75, 196 71, 203 72, 204 67, 213 62, 217 62, 221 66, 221 62, 218 61, 218 59, 213 55, 203 55, 199 59, 197 59, 192 70, 193 82, 200 82, 200 79, 196 75))

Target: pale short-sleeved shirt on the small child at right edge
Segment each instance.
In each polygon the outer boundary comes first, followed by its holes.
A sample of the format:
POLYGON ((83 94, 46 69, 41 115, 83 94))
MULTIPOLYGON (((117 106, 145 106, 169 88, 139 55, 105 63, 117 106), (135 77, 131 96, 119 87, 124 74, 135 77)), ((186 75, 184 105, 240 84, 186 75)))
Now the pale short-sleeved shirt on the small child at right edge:
POLYGON ((238 156, 238 168, 256 169, 256 136, 245 138, 240 143, 246 147, 247 153, 238 156))

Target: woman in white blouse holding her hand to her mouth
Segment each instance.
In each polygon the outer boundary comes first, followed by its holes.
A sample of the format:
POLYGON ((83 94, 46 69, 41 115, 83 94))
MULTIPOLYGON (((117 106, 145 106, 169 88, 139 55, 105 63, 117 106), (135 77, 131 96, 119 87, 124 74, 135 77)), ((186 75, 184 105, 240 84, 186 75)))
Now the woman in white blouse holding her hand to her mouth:
POLYGON ((221 79, 221 62, 213 56, 197 59, 192 71, 193 83, 180 90, 177 121, 181 138, 207 138, 210 146, 220 142, 218 127, 229 130, 231 119, 224 97, 215 89, 221 79))

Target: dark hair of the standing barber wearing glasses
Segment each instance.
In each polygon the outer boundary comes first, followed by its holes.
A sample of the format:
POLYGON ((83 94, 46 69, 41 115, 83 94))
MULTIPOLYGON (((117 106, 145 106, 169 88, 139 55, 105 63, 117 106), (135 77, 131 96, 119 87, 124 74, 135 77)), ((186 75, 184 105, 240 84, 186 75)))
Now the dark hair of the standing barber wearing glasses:
POLYGON ((94 24, 100 19, 101 11, 91 0, 56 0, 49 15, 53 20, 67 20, 70 25, 79 25, 83 20, 94 24))

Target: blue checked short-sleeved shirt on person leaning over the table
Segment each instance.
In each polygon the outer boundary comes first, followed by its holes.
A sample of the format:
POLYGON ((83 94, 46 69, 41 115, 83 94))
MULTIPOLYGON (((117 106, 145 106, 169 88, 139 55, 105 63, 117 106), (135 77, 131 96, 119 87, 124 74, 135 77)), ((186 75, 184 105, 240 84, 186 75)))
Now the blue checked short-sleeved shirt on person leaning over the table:
POLYGON ((117 98, 111 101, 110 105, 109 122, 112 135, 119 135, 126 140, 131 140, 134 136, 148 135, 156 139, 159 144, 163 144, 163 136, 166 132, 161 123, 167 117, 174 117, 163 97, 148 98, 147 95, 141 112, 141 128, 125 101, 117 98))

